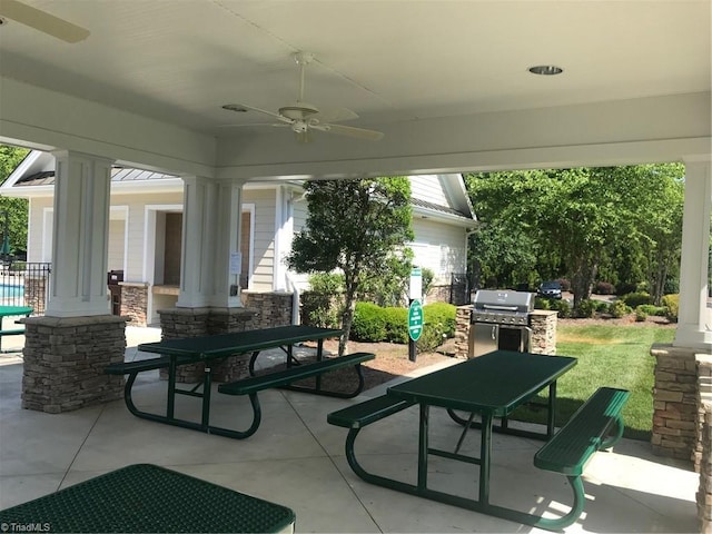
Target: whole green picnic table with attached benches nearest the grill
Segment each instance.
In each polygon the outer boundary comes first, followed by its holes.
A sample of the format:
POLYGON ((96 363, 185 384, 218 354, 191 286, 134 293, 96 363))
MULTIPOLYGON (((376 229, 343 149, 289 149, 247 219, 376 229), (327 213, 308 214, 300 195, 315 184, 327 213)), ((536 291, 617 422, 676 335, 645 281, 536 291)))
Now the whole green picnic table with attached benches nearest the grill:
MULTIPOLYGON (((568 513, 560 517, 542 517, 541 515, 495 505, 490 502, 492 419, 495 415, 506 416, 511 413, 510 408, 504 409, 504 406, 510 404, 508 402, 495 400, 502 397, 501 390, 504 383, 494 378, 497 373, 511 374, 513 369, 517 369, 517 366, 513 365, 515 363, 520 366, 518 370, 515 370, 516 373, 531 377, 537 368, 544 369, 546 366, 555 368, 558 366, 557 360, 552 359, 556 357, 497 352, 496 354, 481 356, 481 358, 485 359, 476 363, 477 358, 475 358, 468 363, 415 378, 390 387, 385 395, 328 414, 327 422, 329 424, 348 428, 345 454, 349 466, 364 481, 390 490, 552 531, 558 531, 571 525, 581 516, 585 503, 581 478, 585 464, 596 451, 613 446, 623 435, 621 411, 627 400, 629 392, 602 387, 578 408, 558 432, 553 434, 553 437, 550 436, 548 432, 542 435, 544 438, 548 437, 548 441, 535 454, 534 465, 542 469, 566 475, 574 492, 574 503, 568 513), (537 363, 535 359, 537 357, 544 359, 537 363), (500 362, 497 362, 497 358, 500 358, 500 362), (508 359, 511 362, 507 362, 508 359), (503 370, 497 370, 500 367, 503 370), (475 384, 474 380, 479 382, 475 384), (397 394, 394 395, 396 393, 394 390, 397 390, 397 394), (455 452, 432 448, 427 438, 428 406, 467 411, 467 403, 471 403, 473 408, 477 405, 481 406, 479 412, 483 415, 479 457, 458 454, 459 443, 455 447, 455 452), (355 452, 356 437, 362 429, 416 404, 419 405, 421 409, 417 483, 398 481, 366 471, 359 464, 355 452), (429 488, 427 486, 428 455, 478 465, 481 469, 479 498, 474 500, 459 494, 449 494, 442 490, 429 488)), ((566 359, 570 360, 571 358, 561 358, 561 368, 558 372, 553 372, 554 374, 565 372, 564 369, 570 368, 572 365, 572 363, 566 364, 566 359), (568 365, 568 367, 565 367, 565 365, 568 365)), ((534 378, 532 379, 534 380, 534 378)), ((541 384, 532 387, 524 395, 520 394, 517 399, 511 403, 511 408, 513 409, 515 405, 525 402, 531 394, 540 388, 541 384)), ((555 387, 552 387, 554 385, 555 382, 550 384, 550 395, 555 398, 555 387)))

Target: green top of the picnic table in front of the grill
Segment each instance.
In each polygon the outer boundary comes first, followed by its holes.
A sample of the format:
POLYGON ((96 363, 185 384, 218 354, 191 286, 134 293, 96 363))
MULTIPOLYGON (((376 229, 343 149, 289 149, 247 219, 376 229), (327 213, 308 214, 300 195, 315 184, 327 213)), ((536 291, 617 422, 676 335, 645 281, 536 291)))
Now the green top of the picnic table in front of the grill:
POLYGON ((494 350, 388 388, 388 395, 466 412, 511 414, 576 365, 576 358, 494 350))

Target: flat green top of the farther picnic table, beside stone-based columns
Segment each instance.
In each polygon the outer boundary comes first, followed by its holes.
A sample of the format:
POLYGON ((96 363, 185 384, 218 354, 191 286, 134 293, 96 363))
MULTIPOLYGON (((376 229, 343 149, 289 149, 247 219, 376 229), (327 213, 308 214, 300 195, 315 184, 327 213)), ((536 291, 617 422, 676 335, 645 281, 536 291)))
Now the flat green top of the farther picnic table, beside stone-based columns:
POLYGON ((342 330, 336 328, 289 325, 214 336, 164 339, 161 342, 144 343, 138 346, 138 349, 146 353, 172 356, 221 357, 294 345, 299 342, 338 337, 340 334, 342 330))

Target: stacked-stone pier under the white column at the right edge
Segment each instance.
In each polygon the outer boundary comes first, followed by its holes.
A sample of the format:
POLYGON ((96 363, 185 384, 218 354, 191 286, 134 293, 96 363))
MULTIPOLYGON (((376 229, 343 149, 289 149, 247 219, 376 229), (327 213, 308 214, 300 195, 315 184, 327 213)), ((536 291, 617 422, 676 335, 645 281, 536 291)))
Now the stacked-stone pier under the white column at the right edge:
POLYGON ((693 459, 698 448, 698 366, 695 350, 653 345, 653 453, 693 459))

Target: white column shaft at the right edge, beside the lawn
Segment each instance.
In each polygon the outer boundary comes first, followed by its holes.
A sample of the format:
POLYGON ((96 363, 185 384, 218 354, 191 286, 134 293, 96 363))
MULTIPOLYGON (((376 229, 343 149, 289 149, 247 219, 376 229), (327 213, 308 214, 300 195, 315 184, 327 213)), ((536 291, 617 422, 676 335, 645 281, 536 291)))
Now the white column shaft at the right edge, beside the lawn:
POLYGON ((708 307, 712 160, 708 155, 684 162, 680 309, 673 345, 712 352, 712 308, 708 307))

